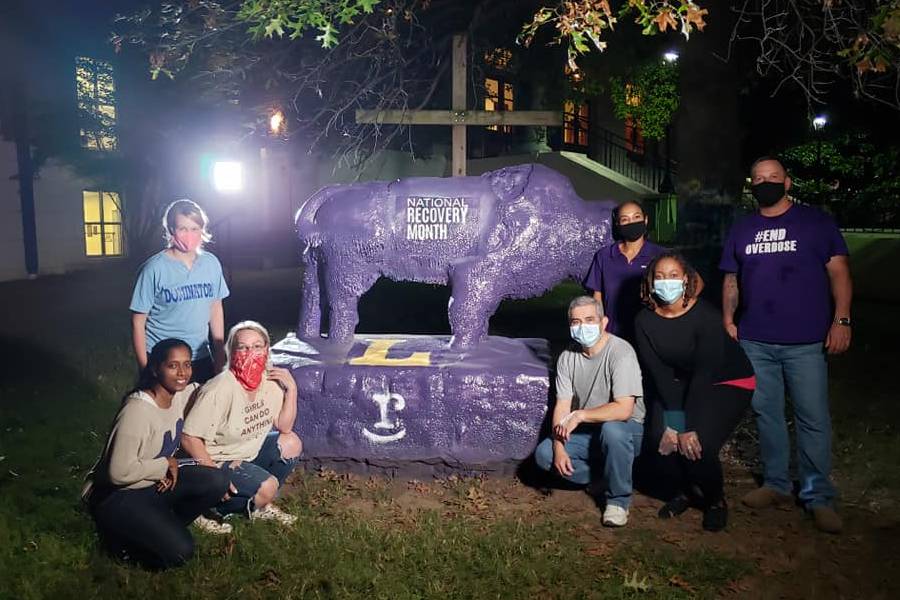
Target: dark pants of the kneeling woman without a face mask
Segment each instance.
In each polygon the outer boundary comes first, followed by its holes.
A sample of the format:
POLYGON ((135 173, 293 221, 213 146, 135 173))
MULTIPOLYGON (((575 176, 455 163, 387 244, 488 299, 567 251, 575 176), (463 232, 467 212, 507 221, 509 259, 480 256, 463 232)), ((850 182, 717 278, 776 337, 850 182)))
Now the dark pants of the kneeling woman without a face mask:
POLYGON ((115 490, 91 513, 112 553, 124 551, 148 567, 166 569, 191 558, 194 539, 187 526, 215 506, 227 489, 228 476, 220 469, 185 466, 178 469, 178 482, 168 492, 159 493, 156 486, 115 490))

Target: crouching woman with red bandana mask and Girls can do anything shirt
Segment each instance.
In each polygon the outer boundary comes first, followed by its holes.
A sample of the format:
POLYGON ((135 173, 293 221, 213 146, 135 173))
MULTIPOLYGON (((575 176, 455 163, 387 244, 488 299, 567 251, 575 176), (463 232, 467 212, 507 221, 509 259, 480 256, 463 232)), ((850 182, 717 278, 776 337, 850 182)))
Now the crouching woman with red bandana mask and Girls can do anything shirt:
MULTIPOLYGON (((232 492, 215 508, 217 516, 244 514, 290 525, 296 517, 272 501, 302 451, 292 431, 297 385, 289 371, 270 365, 269 346, 269 333, 255 321, 231 328, 225 343, 228 369, 200 390, 181 445, 199 464, 228 474, 232 492)), ((197 524, 218 527, 206 517, 197 524)))

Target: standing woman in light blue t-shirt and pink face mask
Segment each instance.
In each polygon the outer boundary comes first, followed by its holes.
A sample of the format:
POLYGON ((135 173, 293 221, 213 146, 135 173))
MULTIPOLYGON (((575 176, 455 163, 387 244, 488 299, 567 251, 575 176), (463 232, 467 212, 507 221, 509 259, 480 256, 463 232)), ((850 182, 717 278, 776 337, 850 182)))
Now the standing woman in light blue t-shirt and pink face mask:
POLYGON ((212 237, 208 224, 206 213, 191 200, 176 200, 166 209, 166 248, 141 266, 129 307, 140 369, 153 347, 166 338, 190 345, 193 381, 205 382, 225 364, 222 300, 229 292, 222 265, 203 248, 212 237))

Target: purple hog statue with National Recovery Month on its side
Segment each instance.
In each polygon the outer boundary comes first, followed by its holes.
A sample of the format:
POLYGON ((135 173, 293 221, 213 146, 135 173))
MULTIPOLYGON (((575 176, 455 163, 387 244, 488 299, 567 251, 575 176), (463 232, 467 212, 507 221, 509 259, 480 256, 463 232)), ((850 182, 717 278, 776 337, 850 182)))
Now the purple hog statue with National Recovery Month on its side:
POLYGON ((501 300, 582 280, 611 241, 611 209, 537 164, 323 188, 296 217, 305 266, 297 335, 320 337, 327 298, 329 340, 350 343, 360 296, 384 276, 449 284, 451 347, 470 348, 501 300))

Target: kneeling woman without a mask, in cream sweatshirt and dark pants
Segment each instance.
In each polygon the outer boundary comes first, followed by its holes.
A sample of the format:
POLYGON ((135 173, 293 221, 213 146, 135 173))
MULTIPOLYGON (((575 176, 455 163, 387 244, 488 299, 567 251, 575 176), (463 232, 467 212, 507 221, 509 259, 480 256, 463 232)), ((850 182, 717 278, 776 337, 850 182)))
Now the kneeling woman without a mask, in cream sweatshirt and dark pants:
POLYGON ((229 488, 219 469, 179 466, 174 458, 184 409, 198 385, 188 383, 191 370, 185 342, 167 339, 153 347, 137 388, 122 403, 85 494, 107 548, 153 568, 191 558, 194 540, 188 525, 229 488))

